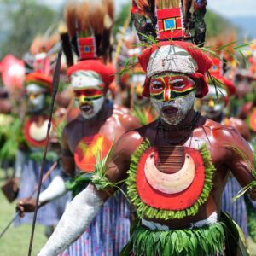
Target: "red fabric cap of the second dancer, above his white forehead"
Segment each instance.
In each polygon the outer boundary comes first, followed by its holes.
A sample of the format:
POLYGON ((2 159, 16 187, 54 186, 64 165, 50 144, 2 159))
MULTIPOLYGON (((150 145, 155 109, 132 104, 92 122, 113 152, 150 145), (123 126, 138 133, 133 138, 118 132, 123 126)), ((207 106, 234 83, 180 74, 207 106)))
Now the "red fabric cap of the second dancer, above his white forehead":
POLYGON ((104 64, 101 60, 79 61, 76 65, 67 69, 67 75, 70 76, 80 70, 94 71, 102 76, 102 81, 108 87, 113 82, 115 69, 111 64, 104 64))

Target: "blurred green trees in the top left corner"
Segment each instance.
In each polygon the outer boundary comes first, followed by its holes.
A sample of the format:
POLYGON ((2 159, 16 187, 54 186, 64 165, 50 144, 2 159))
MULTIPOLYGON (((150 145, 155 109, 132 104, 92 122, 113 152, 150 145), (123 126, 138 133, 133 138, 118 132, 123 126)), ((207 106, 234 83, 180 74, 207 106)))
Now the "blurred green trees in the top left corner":
POLYGON ((0 57, 12 54, 22 57, 30 48, 32 39, 57 25, 61 14, 35 0, 0 0, 2 25, 0 27, 0 57))

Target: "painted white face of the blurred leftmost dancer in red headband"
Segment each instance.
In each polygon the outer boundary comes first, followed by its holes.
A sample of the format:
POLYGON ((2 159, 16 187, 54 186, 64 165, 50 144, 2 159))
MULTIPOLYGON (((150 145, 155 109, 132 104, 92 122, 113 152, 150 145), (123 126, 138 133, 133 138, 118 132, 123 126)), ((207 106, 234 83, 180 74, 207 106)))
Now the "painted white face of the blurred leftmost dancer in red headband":
POLYGON ((38 84, 26 86, 27 107, 31 113, 37 113, 45 107, 45 90, 38 84))

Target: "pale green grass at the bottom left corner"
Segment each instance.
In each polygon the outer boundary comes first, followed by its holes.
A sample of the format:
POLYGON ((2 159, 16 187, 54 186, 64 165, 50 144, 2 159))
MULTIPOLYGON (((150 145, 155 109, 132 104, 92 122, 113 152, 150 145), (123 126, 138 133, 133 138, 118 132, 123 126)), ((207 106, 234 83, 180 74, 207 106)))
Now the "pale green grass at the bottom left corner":
MULTIPOLYGON (((0 186, 3 185, 3 170, 0 170, 0 186)), ((0 232, 9 223, 11 218, 15 216, 16 203, 10 204, 4 197, 2 190, 0 191, 0 232)), ((29 247, 29 240, 32 225, 21 225, 14 227, 13 225, 0 239, 0 255, 1 256, 26 256, 29 247)), ((36 226, 32 255, 36 255, 44 243, 47 241, 44 236, 44 227, 36 226)))

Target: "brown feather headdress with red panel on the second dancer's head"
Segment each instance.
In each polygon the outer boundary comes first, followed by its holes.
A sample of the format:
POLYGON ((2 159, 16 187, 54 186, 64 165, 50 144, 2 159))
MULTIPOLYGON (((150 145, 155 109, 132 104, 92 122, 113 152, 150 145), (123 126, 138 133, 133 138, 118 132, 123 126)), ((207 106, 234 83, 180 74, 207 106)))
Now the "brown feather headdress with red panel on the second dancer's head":
MULTIPOLYGON (((67 3, 65 20, 68 37, 64 40, 64 44, 69 44, 70 38, 79 61, 98 57, 108 61, 111 53, 113 12, 112 0, 70 0, 67 3)), ((67 44, 63 45, 63 49, 67 49, 67 44)))

